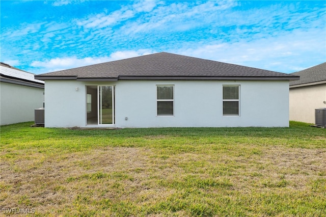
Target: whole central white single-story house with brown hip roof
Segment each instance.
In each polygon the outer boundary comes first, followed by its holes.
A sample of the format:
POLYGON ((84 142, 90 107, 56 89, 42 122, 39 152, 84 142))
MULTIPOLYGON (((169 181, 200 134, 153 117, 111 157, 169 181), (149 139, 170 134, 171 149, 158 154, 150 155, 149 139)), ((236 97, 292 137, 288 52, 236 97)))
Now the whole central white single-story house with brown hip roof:
POLYGON ((166 52, 35 78, 45 127, 288 127, 298 79, 166 52))

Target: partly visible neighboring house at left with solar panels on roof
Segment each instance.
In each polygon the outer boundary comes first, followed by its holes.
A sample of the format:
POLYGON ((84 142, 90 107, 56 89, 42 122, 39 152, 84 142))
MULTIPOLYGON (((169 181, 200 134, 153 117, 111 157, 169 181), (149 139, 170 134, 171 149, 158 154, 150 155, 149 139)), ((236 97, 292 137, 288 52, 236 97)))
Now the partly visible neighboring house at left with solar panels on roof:
POLYGON ((34 121, 34 110, 44 101, 44 82, 34 75, 1 63, 0 125, 34 121))

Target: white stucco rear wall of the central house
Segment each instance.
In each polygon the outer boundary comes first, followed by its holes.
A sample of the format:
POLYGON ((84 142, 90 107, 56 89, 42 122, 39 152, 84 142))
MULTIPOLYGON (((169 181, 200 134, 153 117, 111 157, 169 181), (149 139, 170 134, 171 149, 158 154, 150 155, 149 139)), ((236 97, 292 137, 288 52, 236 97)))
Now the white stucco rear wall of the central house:
POLYGON ((86 127, 92 85, 115 86, 115 127, 289 126, 288 81, 46 80, 45 127, 86 127), (157 117, 156 85, 174 85, 173 117, 157 117), (223 116, 223 85, 240 85, 239 116, 223 116))

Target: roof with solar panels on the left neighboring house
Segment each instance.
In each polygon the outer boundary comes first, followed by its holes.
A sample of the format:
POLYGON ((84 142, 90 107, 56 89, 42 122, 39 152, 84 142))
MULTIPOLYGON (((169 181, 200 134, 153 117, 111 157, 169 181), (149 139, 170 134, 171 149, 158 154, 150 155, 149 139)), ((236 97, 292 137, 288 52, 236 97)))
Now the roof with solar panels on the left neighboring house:
POLYGON ((0 64, 1 82, 44 89, 43 80, 35 79, 34 75, 33 73, 17 69, 5 63, 0 64))

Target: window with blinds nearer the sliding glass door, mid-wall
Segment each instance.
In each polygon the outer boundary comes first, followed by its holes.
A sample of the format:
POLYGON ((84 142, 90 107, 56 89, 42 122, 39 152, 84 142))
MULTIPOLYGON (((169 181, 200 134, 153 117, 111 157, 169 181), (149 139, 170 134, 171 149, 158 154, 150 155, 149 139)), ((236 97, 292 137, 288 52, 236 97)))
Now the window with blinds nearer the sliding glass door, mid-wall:
POLYGON ((156 86, 157 116, 174 115, 174 86, 156 86))

